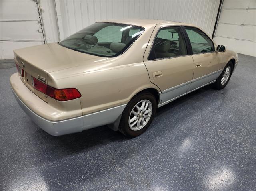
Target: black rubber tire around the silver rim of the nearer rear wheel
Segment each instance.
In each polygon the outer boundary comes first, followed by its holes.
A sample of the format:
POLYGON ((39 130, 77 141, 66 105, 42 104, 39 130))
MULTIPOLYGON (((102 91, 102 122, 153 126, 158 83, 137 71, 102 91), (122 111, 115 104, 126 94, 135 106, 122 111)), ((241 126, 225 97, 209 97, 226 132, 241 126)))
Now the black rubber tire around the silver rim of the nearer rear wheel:
POLYGON ((157 108, 157 103, 156 103, 156 98, 154 97, 154 95, 152 95, 150 92, 148 91, 144 91, 142 93, 138 93, 137 95, 135 95, 130 102, 126 105, 126 107, 124 108, 124 111, 122 113, 122 117, 120 120, 120 124, 119 124, 119 128, 118 130, 124 134, 125 136, 128 137, 136 137, 139 136, 140 134, 142 134, 144 131, 147 130, 147 128, 150 126, 150 124, 152 123, 153 119, 154 119, 154 115, 156 113, 156 108, 157 108), (148 122, 146 123, 146 125, 140 129, 140 130, 132 130, 129 126, 129 117, 130 117, 130 113, 132 112, 132 109, 134 108, 134 106, 140 102, 141 100, 149 100, 152 104, 152 113, 151 113, 151 117, 148 120, 148 122))

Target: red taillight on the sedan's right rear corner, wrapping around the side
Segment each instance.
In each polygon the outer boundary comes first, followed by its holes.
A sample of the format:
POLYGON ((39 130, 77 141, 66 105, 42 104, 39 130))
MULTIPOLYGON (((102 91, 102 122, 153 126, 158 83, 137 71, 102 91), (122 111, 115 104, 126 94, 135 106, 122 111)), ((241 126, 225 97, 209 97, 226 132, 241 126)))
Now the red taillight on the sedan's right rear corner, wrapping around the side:
POLYGON ((38 91, 59 101, 68 101, 81 97, 80 92, 75 88, 56 89, 42 83, 34 77, 32 77, 32 86, 38 91))

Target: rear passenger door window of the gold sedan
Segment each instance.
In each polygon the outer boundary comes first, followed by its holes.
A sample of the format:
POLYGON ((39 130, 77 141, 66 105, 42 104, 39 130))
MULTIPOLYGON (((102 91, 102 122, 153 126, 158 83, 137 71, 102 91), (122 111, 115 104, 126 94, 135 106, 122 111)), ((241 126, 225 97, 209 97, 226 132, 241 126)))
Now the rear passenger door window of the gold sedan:
POLYGON ((180 27, 166 27, 158 31, 149 60, 187 55, 184 37, 180 27))

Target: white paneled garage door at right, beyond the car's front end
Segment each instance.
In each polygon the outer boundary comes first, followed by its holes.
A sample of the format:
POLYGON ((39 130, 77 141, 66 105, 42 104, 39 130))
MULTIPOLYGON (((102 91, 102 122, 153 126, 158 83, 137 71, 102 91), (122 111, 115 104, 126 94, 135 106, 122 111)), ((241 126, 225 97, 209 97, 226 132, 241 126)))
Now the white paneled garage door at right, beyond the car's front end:
POLYGON ((237 53, 256 56, 256 1, 224 0, 214 41, 237 53))

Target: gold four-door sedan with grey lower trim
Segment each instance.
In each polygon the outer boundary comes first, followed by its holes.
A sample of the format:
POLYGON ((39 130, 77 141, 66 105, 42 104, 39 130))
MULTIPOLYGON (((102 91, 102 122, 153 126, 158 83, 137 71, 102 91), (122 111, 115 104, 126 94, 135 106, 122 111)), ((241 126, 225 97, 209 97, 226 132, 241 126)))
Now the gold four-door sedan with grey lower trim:
POLYGON ((14 96, 54 136, 106 124, 138 136, 156 108, 205 85, 224 88, 238 63, 197 26, 143 19, 96 22, 14 55, 14 96))

